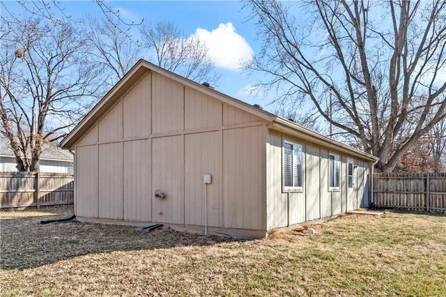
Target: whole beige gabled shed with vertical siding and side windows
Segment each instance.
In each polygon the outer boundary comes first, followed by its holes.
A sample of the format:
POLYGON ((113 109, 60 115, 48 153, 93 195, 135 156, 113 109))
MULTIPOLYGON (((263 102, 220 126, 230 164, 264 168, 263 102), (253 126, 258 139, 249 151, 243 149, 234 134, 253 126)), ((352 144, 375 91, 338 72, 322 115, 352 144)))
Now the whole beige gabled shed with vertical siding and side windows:
POLYGON ((240 237, 369 206, 377 160, 144 60, 61 144, 79 220, 240 237))

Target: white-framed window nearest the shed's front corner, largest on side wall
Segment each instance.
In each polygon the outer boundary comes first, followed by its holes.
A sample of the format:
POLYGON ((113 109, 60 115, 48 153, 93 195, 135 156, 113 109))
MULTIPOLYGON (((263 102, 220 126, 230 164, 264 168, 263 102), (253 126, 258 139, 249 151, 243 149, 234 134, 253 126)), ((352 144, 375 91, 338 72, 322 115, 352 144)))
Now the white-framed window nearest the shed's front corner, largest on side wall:
POLYGON ((284 189, 302 189, 302 144, 284 140, 284 189))

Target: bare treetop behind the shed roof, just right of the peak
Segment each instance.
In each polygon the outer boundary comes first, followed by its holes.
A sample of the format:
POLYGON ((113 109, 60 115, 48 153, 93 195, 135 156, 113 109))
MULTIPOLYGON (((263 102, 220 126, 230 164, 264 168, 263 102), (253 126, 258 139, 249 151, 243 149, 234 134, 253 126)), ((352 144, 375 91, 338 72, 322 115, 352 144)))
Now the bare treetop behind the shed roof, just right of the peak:
POLYGON ((202 40, 187 37, 172 22, 143 24, 141 40, 148 47, 149 60, 164 69, 196 82, 215 84, 219 75, 202 40))

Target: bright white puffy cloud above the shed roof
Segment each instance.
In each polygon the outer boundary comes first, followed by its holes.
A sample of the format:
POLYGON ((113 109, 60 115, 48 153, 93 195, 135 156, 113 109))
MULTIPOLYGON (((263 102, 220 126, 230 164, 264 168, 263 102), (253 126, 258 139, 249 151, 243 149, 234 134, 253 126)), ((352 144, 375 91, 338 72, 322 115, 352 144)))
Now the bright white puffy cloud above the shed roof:
POLYGON ((219 24, 212 31, 197 28, 192 36, 206 43, 210 59, 217 67, 239 70, 243 63, 254 56, 251 46, 238 35, 232 23, 219 24))

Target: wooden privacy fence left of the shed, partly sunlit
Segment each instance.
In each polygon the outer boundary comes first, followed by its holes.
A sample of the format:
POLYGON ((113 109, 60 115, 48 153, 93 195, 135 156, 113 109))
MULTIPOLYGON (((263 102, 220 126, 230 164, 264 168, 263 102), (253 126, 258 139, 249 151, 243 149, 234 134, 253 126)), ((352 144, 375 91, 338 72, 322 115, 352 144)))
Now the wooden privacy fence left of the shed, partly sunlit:
POLYGON ((0 172, 0 208, 73 204, 72 174, 0 172))

